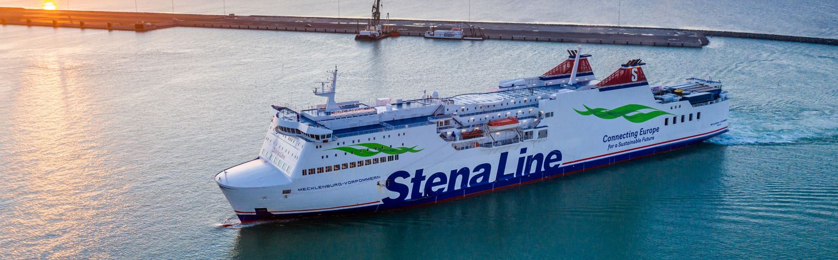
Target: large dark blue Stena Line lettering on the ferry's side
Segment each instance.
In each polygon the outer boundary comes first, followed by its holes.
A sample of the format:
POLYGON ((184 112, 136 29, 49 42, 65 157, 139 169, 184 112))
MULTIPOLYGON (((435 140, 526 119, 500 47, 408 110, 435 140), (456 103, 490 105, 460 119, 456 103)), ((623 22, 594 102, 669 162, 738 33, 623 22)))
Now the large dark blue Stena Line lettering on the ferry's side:
POLYGON ((477 164, 473 168, 463 167, 433 174, 426 173, 425 169, 416 169, 412 174, 406 170, 396 171, 387 177, 388 185, 386 186, 387 190, 398 193, 398 196, 386 197, 381 202, 388 204, 401 200, 417 200, 454 190, 486 185, 495 180, 551 172, 561 166, 559 150, 552 150, 546 155, 542 153, 526 155, 526 149, 520 149, 520 157, 512 171, 506 169, 510 152, 500 153, 497 168, 490 163, 485 163, 477 164))

